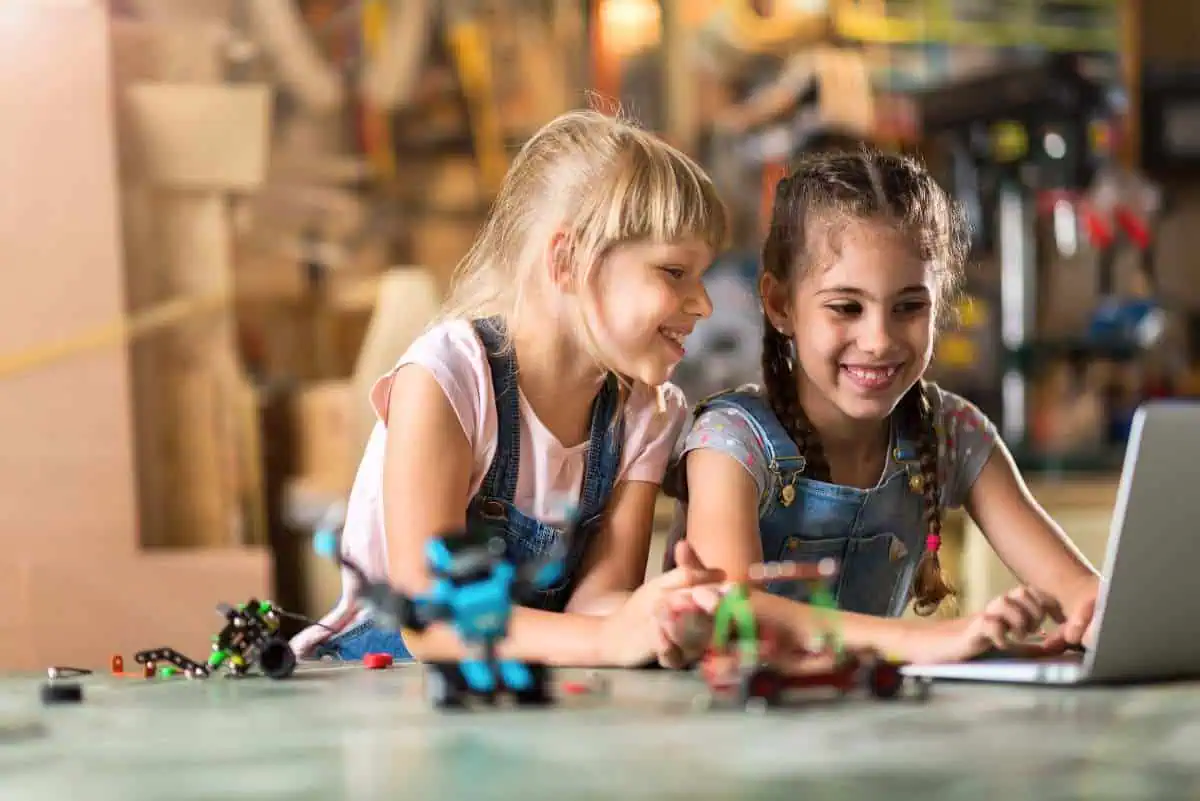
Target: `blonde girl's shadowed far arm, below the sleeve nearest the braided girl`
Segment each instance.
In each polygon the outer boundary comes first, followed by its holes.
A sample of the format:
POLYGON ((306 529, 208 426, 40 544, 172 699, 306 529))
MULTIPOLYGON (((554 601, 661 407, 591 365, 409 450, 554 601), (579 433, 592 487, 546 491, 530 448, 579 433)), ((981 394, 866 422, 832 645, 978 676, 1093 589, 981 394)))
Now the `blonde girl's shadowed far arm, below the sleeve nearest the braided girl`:
POLYGON ((658 494, 659 484, 648 481, 623 481, 613 488, 605 524, 590 546, 568 612, 607 615, 642 584, 658 494))

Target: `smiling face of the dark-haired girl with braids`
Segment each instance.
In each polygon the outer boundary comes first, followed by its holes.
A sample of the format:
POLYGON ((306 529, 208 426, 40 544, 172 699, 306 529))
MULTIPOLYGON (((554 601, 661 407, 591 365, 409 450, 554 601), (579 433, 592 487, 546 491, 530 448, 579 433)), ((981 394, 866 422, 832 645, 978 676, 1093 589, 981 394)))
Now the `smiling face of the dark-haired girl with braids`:
POLYGON ((848 221, 793 285, 763 276, 767 315, 793 342, 811 417, 887 417, 934 354, 936 273, 902 231, 848 221))

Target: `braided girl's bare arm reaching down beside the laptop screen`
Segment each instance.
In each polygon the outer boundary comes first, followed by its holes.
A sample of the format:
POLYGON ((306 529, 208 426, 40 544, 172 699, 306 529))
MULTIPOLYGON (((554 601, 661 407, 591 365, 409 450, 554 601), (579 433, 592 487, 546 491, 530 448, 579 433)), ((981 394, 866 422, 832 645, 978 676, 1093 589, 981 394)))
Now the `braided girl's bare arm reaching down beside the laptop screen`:
POLYGON ((1068 619, 1096 600, 1099 574, 1034 500, 1002 441, 996 440, 965 506, 1001 561, 1021 582, 1056 597, 1068 619))

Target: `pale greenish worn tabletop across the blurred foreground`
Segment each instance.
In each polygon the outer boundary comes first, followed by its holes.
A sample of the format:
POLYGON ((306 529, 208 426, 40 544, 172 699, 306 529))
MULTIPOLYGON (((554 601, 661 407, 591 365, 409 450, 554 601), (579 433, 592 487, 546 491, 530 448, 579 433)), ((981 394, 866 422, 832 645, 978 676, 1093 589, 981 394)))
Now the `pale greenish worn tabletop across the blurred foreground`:
POLYGON ((938 683, 926 701, 756 712, 704 709, 692 674, 560 670, 554 707, 446 713, 412 664, 97 674, 82 704, 52 706, 44 681, 0 679, 5 801, 1200 797, 1195 685, 938 683), (563 692, 596 677, 607 688, 563 692))

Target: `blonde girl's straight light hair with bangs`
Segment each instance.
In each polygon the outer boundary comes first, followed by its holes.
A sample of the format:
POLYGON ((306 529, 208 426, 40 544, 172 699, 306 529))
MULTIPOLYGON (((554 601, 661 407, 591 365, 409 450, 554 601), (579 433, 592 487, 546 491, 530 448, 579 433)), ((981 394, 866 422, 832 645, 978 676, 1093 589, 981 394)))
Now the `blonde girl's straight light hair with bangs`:
MULTIPOLYGON (((632 241, 686 237, 715 251, 726 210, 691 158, 634 122, 593 110, 563 114, 533 134, 512 161, 491 213, 458 264, 439 320, 499 317, 505 344, 548 279, 545 248, 563 230, 575 285, 584 289, 608 251, 632 241)), ((576 333, 604 367, 582 313, 576 333)))

